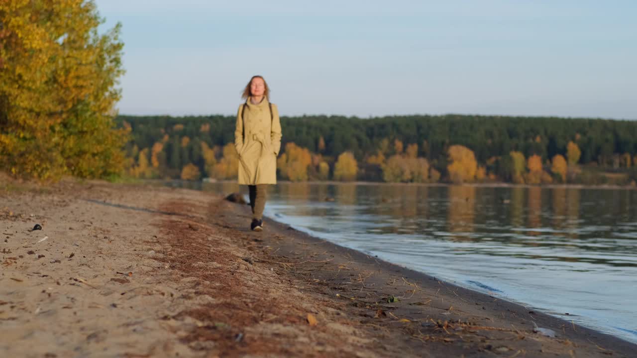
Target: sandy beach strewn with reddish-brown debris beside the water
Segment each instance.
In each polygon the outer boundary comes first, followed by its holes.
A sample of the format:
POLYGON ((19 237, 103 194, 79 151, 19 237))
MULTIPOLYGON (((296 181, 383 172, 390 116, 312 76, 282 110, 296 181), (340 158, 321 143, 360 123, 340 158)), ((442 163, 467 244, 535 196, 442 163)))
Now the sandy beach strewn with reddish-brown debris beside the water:
POLYGON ((1 357, 637 356, 221 195, 1 180, 1 357))

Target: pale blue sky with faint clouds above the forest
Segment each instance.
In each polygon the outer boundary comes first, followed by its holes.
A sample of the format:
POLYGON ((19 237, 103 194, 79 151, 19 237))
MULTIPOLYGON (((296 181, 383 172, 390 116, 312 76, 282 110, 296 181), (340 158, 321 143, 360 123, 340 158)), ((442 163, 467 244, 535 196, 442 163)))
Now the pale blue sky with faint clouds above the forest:
POLYGON ((637 1, 97 0, 122 22, 122 114, 637 119, 637 1))

